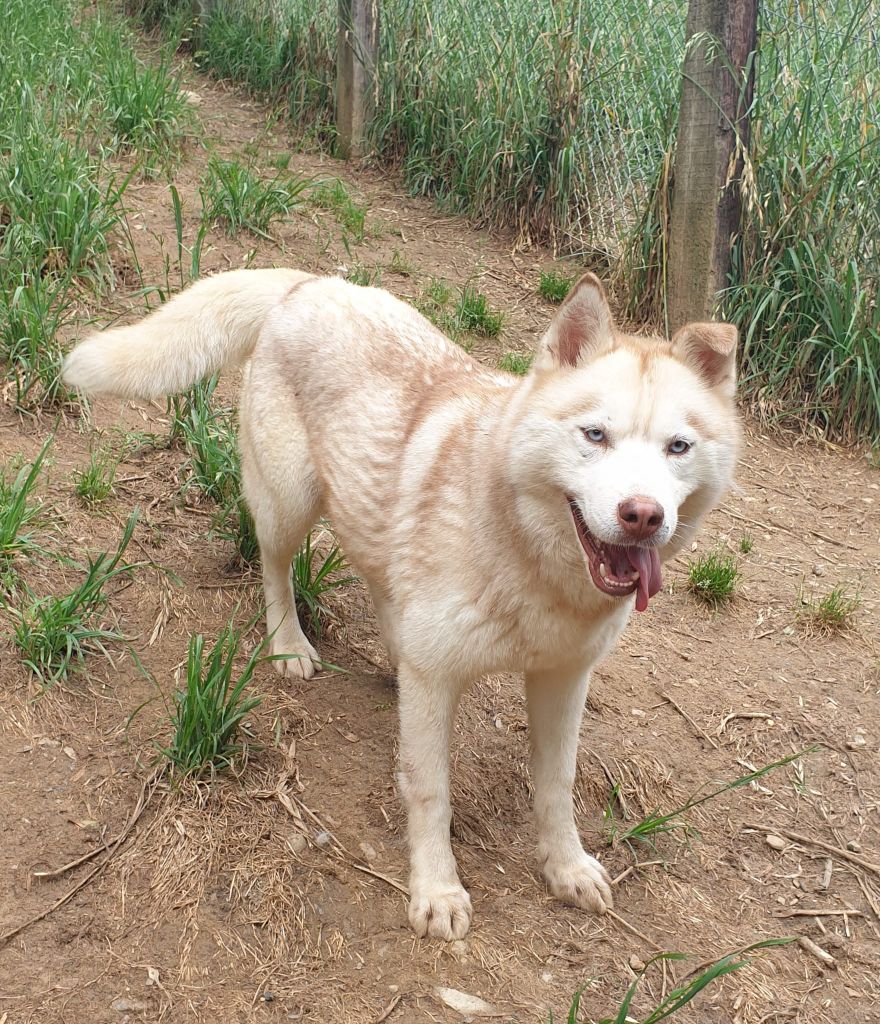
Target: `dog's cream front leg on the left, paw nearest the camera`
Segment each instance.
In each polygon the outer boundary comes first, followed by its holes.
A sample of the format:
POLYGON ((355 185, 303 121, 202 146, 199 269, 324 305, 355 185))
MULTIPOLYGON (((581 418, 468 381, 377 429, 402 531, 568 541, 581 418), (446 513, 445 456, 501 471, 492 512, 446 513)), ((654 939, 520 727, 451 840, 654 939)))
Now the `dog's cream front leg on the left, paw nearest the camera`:
POLYGON ((461 688, 426 678, 405 662, 397 672, 400 783, 410 837, 410 924, 417 935, 460 939, 470 897, 450 842, 449 744, 461 688))

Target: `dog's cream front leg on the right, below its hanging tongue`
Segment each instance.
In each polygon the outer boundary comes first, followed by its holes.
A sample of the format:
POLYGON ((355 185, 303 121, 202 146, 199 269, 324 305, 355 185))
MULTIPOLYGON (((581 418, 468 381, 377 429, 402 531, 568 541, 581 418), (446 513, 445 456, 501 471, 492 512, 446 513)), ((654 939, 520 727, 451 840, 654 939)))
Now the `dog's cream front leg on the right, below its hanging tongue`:
POLYGON ((572 787, 578 736, 589 688, 582 667, 526 676, 538 859, 550 892, 564 903, 602 913, 613 906, 610 879, 584 851, 575 825, 572 787))

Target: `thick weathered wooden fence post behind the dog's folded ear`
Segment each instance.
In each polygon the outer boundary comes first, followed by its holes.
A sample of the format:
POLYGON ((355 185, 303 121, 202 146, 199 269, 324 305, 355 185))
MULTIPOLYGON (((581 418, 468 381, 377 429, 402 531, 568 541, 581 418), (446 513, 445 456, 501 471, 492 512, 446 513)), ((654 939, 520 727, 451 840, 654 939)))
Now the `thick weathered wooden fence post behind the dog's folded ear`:
POLYGON ((727 286, 742 213, 737 135, 748 145, 757 25, 758 0, 688 4, 669 238, 672 331, 709 318, 727 286))

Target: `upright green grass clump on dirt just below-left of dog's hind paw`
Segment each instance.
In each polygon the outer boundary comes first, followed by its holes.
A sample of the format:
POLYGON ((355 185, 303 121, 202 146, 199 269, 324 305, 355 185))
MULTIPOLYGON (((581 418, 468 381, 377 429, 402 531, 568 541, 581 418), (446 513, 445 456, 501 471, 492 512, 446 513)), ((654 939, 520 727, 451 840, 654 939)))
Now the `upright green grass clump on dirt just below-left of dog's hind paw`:
POLYGON ((237 673, 242 635, 231 622, 210 648, 201 634, 190 637, 184 687, 174 694, 173 735, 162 751, 175 774, 213 777, 246 757, 241 739, 247 735, 245 719, 260 702, 247 687, 263 645, 254 648, 237 673))

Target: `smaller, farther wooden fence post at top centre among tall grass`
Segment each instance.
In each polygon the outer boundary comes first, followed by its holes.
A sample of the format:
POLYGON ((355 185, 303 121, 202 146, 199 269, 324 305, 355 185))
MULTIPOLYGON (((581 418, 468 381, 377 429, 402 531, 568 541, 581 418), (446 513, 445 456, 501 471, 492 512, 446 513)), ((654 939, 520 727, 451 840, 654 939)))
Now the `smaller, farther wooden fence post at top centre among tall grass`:
POLYGON ((373 113, 379 51, 379 0, 339 0, 336 132, 339 156, 363 156, 373 113))

